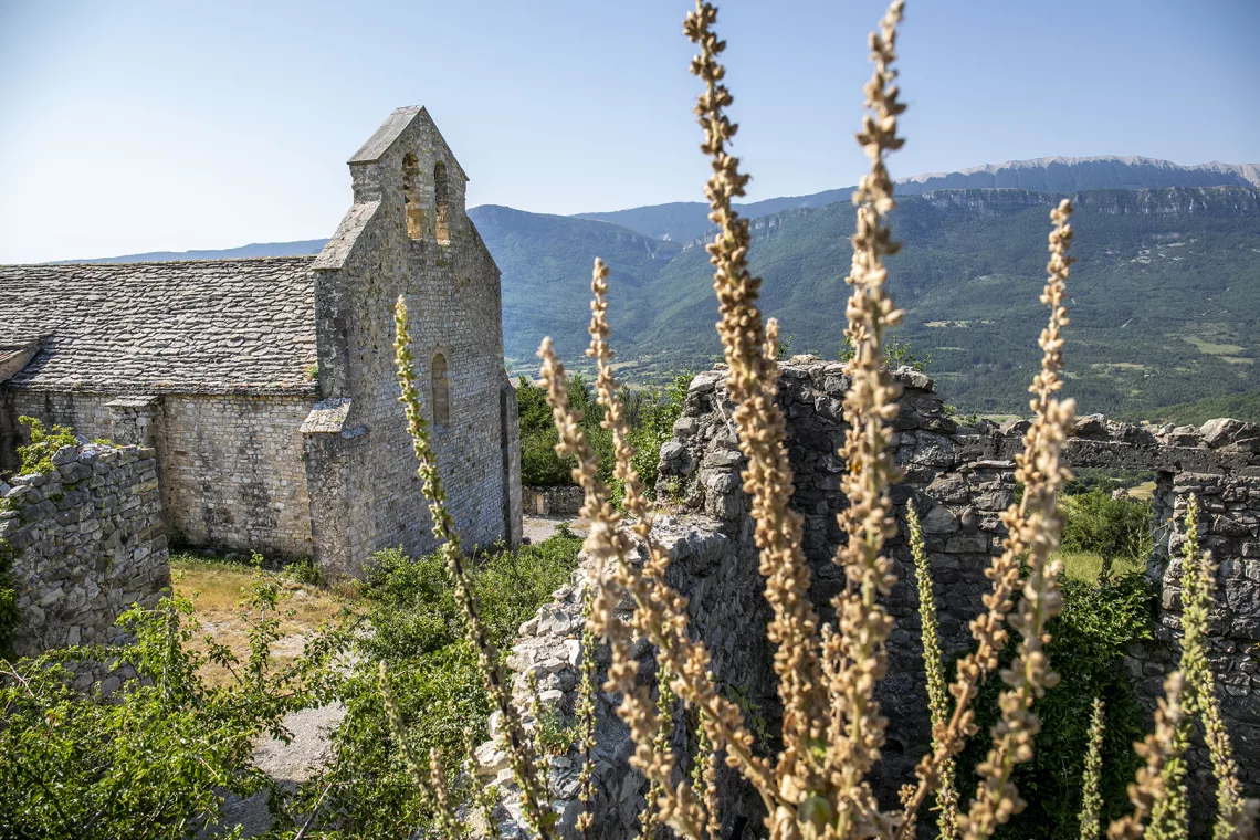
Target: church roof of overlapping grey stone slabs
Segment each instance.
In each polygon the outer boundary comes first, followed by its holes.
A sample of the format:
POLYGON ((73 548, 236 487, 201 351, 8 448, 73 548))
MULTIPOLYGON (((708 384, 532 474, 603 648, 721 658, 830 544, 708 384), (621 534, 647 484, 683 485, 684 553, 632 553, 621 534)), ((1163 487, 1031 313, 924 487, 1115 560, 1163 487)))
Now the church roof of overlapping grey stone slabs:
POLYGON ((40 344, 4 387, 314 394, 311 262, 0 266, 0 346, 40 344))

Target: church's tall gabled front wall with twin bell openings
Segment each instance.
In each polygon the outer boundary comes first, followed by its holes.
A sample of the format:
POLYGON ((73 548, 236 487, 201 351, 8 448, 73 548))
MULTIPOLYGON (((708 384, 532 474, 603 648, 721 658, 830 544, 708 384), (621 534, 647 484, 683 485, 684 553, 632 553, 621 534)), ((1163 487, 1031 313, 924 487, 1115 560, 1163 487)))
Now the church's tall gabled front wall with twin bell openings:
POLYGON ((398 403, 393 307, 399 295, 410 311, 447 506, 465 548, 520 539, 515 395, 505 392, 512 385, 503 370, 499 271, 464 212, 465 176, 441 135, 422 111, 399 120, 404 127, 396 126, 397 136, 381 147, 373 139, 352 159, 355 204, 315 262, 320 389, 326 400, 348 402, 335 421, 326 416, 309 427, 310 486, 316 510, 353 499, 344 521, 318 539, 316 559, 350 574, 381 549, 418 554, 435 548, 398 403), (406 155, 418 160, 412 194, 426 219, 418 238, 407 229, 406 155), (437 161, 446 166, 449 185, 445 241, 436 236, 437 161), (438 354, 446 369, 446 417, 435 412, 441 402, 433 382, 438 354))

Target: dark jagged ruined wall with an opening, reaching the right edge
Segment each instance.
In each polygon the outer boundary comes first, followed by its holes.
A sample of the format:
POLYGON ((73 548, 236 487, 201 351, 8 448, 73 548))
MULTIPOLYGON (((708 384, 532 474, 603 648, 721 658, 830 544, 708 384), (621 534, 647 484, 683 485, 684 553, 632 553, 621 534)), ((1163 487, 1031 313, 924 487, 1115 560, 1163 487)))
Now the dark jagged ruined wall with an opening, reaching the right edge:
MULTIPOLYGON (((703 373, 692 383, 675 441, 662 448, 659 486, 680 489, 690 508, 736 521, 747 514, 738 481, 742 458, 728 443, 732 406, 723 372, 703 373)), ((1005 534, 998 514, 1014 499, 1014 455, 1023 447, 1026 421, 1002 427, 982 422, 958 427, 945 416, 931 380, 902 369, 900 414, 892 446, 903 471, 893 489, 897 536, 888 543, 898 582, 886 599, 896 620, 888 646, 888 676, 881 683, 882 710, 890 718, 879 773, 905 778, 929 743, 926 691, 919 642, 914 563, 906 543, 905 509, 914 504, 922 520, 932 567, 940 631, 946 655, 971 645, 968 621, 983 607, 990 584, 984 569, 1005 534)), ((844 462, 837 455, 845 423, 842 400, 849 380, 838 363, 798 358, 781 365, 780 404, 788 414, 794 508, 804 515, 805 554, 813 565, 810 598, 824 617, 828 601, 843 586, 830 563, 840 542, 835 514, 844 462)), ((1177 552, 1186 501, 1194 492, 1203 506, 1203 547, 1221 564, 1213 623, 1213 666, 1222 686, 1222 710, 1240 752, 1242 777, 1260 787, 1260 427, 1211 421, 1202 429, 1150 429, 1084 417, 1066 447, 1077 467, 1152 470, 1159 475, 1155 550, 1148 574, 1162 593, 1157 625, 1162 645, 1134 651, 1130 669, 1148 707, 1160 693, 1176 659, 1179 636, 1177 552), (1171 523, 1171 524, 1169 524, 1171 523), (1169 563, 1172 557, 1172 563, 1169 563)), ((750 582, 757 586, 760 581, 750 582)))

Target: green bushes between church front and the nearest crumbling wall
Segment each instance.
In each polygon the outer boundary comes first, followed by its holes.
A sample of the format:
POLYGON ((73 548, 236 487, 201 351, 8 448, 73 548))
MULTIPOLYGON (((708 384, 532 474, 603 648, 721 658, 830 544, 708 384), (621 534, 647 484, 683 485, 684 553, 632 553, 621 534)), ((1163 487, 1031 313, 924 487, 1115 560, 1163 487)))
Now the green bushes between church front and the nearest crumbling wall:
MULTIPOLYGON (((507 651, 520 625, 568 582, 581 539, 567 530, 518 553, 494 552, 472 569, 488 637, 507 651)), ((407 837, 425 821, 423 791, 403 767, 386 719, 375 661, 386 662, 410 746, 449 758, 465 730, 486 734, 490 703, 476 655, 464 640, 464 617, 436 555, 411 558, 393 549, 375 555, 363 588, 372 635, 359 641, 362 664, 346 680, 346 717, 333 738, 333 761, 300 793, 306 807, 324 793, 325 837, 407 837)), ((454 761, 449 761, 454 764, 454 761)))

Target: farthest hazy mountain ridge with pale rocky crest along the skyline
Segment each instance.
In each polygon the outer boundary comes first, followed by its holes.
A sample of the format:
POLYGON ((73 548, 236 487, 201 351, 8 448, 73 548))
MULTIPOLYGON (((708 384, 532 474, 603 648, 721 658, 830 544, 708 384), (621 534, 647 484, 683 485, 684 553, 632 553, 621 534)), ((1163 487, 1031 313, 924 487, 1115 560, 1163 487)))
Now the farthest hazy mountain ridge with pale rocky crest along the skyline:
MULTIPOLYGON (((974 166, 958 173, 930 173, 897 181, 897 195, 919 195, 942 189, 1011 188, 1051 193, 1079 190, 1135 190, 1167 186, 1242 186, 1260 188, 1257 164, 1200 164, 1181 166, 1154 157, 1038 157, 1004 164, 974 166)), ((824 190, 813 195, 772 198, 738 205, 748 218, 781 213, 791 208, 827 207, 848 201, 852 186, 824 190)), ((609 213, 580 213, 581 219, 621 224, 655 239, 689 242, 712 229, 708 205, 702 201, 674 201, 636 207, 609 213)))

